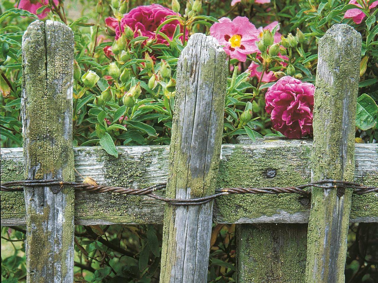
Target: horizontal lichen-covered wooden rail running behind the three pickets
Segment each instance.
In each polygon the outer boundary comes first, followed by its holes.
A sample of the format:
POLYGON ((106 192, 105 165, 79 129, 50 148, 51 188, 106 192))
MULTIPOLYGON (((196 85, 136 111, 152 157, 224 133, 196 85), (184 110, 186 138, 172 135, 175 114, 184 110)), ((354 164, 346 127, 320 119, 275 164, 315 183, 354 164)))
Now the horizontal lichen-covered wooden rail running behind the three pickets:
MULTIPOLYGON (((311 140, 257 140, 253 145, 222 145, 217 187, 281 186, 308 182, 311 140), (246 169, 247 168, 247 169, 246 169), (274 178, 266 170, 276 169, 274 178)), ((118 146, 119 157, 100 147, 74 148, 75 168, 100 184, 143 188, 167 181, 168 146, 118 146)), ((378 144, 356 144, 355 181, 378 186, 378 144)), ((0 150, 1 180, 19 180, 23 171, 22 148, 0 150)), ((76 175, 76 180, 82 178, 76 175)), ((163 192, 158 192, 163 195, 163 192)), ((22 192, 1 192, 1 224, 25 225, 22 192)), ((353 195, 350 222, 378 222, 378 193, 353 195)), ((297 195, 228 195, 214 205, 217 223, 307 223, 310 205, 297 195), (274 205, 273 205, 274 204, 274 205)), ((164 203, 148 197, 119 194, 75 193, 75 223, 162 224, 164 203)))

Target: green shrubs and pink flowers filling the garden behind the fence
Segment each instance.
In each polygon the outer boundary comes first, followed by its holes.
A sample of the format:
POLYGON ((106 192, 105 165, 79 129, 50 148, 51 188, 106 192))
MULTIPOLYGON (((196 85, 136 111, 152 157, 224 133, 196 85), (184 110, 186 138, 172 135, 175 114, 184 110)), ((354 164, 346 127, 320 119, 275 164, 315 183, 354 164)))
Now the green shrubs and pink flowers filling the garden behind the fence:
MULTIPOLYGON (((310 93, 313 87, 307 83, 315 80, 318 39, 335 23, 348 23, 363 36, 356 142, 376 143, 376 7, 378 1, 372 0, 3 0, 1 146, 22 146, 21 41, 37 18, 31 12, 67 23, 74 31, 74 145, 99 145, 115 157, 115 145, 169 145, 177 59, 195 32, 213 35, 229 55, 224 143, 236 143, 238 135, 311 138, 311 95, 284 105, 290 120, 282 113, 271 117, 277 106, 266 107, 266 92, 283 91, 280 84, 273 85, 289 75, 310 93), (307 108, 296 106, 293 112, 296 101, 307 108)), ((25 281, 23 229, 2 227, 4 282, 25 281)), ((77 282, 158 282, 161 226, 75 229, 77 282)), ((235 282, 234 231, 235 225, 213 225, 209 282, 235 282)), ((348 241, 346 282, 378 281, 377 223, 351 225, 348 241)))

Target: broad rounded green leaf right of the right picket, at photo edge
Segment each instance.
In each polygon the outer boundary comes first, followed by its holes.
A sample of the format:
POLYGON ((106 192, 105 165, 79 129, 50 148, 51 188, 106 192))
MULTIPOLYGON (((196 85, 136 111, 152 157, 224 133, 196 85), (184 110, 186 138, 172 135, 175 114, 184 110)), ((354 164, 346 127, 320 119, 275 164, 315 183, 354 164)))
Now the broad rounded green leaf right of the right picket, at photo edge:
POLYGON ((378 106, 373 98, 367 94, 362 94, 357 98, 356 126, 366 131, 376 125, 378 106))

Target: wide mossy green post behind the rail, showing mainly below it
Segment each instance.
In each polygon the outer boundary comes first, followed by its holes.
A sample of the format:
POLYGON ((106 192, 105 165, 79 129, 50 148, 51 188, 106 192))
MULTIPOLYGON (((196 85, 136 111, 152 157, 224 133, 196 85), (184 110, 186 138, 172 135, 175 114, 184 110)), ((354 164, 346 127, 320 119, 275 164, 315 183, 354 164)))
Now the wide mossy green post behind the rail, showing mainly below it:
MULTIPOLYGON (((237 140, 243 145, 260 143, 260 140, 253 142, 244 136, 237 140)), ((298 142, 301 141, 287 140, 288 144, 298 142)), ((273 179, 276 175, 277 169, 266 170, 266 178, 273 179)), ((295 186, 300 185, 301 180, 296 183, 289 178, 279 182, 280 186, 295 186)), ((307 224, 239 224, 235 237, 238 283, 304 282, 307 224)))

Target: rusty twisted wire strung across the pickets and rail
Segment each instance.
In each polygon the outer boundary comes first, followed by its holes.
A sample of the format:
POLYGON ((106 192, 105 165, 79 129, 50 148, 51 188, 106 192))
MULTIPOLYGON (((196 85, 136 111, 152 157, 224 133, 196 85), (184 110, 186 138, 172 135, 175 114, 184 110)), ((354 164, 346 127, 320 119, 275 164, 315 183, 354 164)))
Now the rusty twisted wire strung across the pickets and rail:
MULTIPOLYGON (((87 178, 86 178, 87 179, 87 178)), ((62 180, 18 180, 18 181, 9 181, 1 183, 1 191, 5 192, 17 192, 23 191, 23 187, 56 187, 59 186, 59 189, 53 190, 53 192, 58 192, 64 186, 70 186, 77 191, 86 191, 86 192, 115 192, 119 194, 127 195, 147 195, 149 197, 155 198, 156 200, 161 200, 171 205, 201 205, 208 203, 211 200, 214 200, 217 197, 231 194, 298 194, 302 197, 311 197, 311 191, 306 191, 304 189, 309 187, 317 187, 322 189, 353 189, 354 194, 368 194, 370 192, 378 192, 378 187, 366 186, 363 184, 342 181, 342 180, 321 180, 312 183, 307 183, 299 186, 290 186, 290 187, 266 187, 266 188, 219 188, 215 190, 215 194, 209 195, 206 197, 200 198, 166 198, 156 195, 153 192, 165 189, 167 183, 158 183, 147 188, 125 188, 122 186, 106 186, 98 185, 95 180, 89 178, 90 183, 83 182, 68 182, 62 180)))

